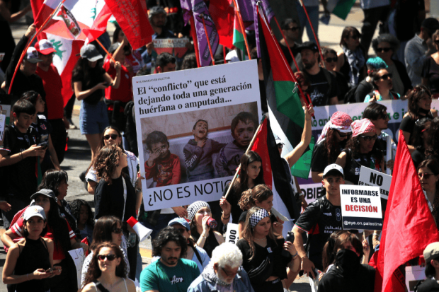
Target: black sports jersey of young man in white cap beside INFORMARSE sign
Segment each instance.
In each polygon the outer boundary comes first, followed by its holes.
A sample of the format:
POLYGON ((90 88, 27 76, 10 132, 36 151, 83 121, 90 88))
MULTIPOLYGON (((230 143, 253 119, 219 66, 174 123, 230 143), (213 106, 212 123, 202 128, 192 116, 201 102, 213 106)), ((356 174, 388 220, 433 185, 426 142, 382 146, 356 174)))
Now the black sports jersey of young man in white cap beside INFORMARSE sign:
POLYGON ((331 233, 341 230, 341 206, 333 206, 326 197, 321 197, 308 205, 295 226, 309 236, 308 258, 317 269, 323 271, 321 256, 323 247, 331 233))

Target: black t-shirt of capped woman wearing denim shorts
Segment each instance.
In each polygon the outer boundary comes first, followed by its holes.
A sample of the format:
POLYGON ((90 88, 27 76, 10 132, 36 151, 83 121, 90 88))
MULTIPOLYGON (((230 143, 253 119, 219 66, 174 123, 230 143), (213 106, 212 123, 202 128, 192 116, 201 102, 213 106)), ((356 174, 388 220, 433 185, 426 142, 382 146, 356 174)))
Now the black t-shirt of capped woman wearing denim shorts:
MULTIPOLYGON (((81 82, 81 91, 89 90, 98 83, 105 81, 103 74, 106 74, 106 71, 101 66, 96 65, 96 67, 89 69, 87 80, 85 80, 84 72, 79 72, 79 74, 72 76, 72 82, 81 82)), ((97 105, 103 96, 103 89, 98 89, 91 93, 91 95, 87 96, 84 101, 89 105, 97 105)))

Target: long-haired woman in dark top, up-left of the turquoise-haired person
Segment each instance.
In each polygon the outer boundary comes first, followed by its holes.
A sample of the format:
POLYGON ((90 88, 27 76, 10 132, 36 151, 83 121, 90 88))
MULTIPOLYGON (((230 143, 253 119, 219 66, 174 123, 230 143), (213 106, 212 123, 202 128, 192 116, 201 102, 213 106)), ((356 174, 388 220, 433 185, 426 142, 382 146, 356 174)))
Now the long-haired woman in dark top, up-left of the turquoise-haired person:
POLYGON ((360 32, 353 26, 347 26, 341 33, 336 71, 341 72, 350 87, 358 85, 366 76, 365 52, 360 46, 360 32))

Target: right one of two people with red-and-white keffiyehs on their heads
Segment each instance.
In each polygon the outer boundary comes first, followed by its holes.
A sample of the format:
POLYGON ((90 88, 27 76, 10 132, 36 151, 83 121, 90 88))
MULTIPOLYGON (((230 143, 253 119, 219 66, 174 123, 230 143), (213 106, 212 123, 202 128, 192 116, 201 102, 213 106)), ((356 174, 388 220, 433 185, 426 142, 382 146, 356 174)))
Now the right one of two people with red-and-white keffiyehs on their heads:
POLYGON ((375 141, 377 132, 370 119, 360 119, 353 122, 352 137, 341 151, 336 163, 340 165, 349 184, 358 185, 361 166, 384 172, 382 152, 375 141))

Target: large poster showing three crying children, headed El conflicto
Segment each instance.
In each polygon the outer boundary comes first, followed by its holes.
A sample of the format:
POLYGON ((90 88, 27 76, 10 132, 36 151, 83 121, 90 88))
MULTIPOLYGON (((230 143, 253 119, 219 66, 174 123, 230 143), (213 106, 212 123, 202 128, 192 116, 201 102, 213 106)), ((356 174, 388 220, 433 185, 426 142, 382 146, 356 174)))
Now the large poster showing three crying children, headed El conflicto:
POLYGON ((145 210, 219 200, 262 117, 256 60, 132 84, 145 210))

